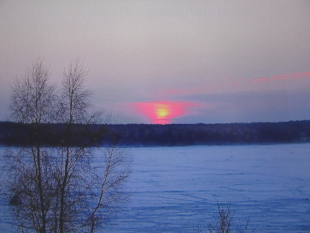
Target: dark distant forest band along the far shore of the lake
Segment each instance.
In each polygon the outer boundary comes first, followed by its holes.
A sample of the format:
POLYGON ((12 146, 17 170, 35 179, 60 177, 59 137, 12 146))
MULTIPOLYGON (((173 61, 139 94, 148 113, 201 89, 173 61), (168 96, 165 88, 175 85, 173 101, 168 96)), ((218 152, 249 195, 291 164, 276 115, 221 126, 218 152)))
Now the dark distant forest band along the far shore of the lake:
POLYGON ((183 146, 310 142, 310 120, 229 124, 25 124, 0 122, 1 145, 183 146))

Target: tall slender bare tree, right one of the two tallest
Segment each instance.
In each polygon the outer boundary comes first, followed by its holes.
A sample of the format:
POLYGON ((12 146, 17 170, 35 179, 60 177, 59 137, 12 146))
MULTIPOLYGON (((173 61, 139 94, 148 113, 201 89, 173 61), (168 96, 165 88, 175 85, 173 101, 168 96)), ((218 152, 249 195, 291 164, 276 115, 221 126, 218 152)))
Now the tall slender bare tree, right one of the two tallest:
MULTIPOLYGON (((58 116, 61 122, 68 124, 68 132, 70 132, 73 123, 95 123, 102 115, 102 111, 88 115, 87 111, 90 107, 88 99, 92 92, 83 86, 87 73, 87 71, 83 70, 83 62, 79 59, 72 61, 69 64, 68 71, 64 72, 58 116)), ((70 135, 67 136, 70 138, 70 135)), ((60 233, 73 230, 72 220, 76 219, 78 214, 75 210, 78 209, 78 206, 81 206, 79 202, 74 202, 71 206, 68 206, 67 203, 70 203, 68 199, 77 191, 74 184, 83 183, 83 176, 81 176, 80 172, 90 170, 89 167, 84 166, 88 165, 90 161, 87 160, 91 159, 89 156, 91 153, 87 153, 86 149, 86 145, 82 145, 81 148, 70 148, 69 146, 61 148, 60 161, 56 163, 55 170, 59 171, 59 176, 56 176, 56 179, 60 188, 57 197, 60 233), (73 177, 80 179, 76 181, 72 179, 73 177), (71 227, 69 227, 70 225, 71 227)))

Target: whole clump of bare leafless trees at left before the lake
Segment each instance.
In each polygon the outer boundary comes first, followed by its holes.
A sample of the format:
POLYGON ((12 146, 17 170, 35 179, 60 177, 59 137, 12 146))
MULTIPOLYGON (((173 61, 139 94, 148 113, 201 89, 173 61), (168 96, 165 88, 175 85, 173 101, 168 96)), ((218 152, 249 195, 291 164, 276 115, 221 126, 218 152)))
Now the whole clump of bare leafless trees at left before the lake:
MULTIPOLYGON (((92 91, 84 87, 87 73, 82 61, 72 61, 56 99, 49 69, 36 60, 12 88, 13 119, 37 125, 64 123, 69 139, 75 123, 108 123, 111 113, 105 118, 104 110, 89 113, 92 91)), ((128 197, 122 187, 130 174, 131 159, 114 145, 102 152, 105 166, 94 166, 94 149, 89 143, 60 148, 36 143, 7 150, 1 186, 7 197, 19 195, 22 199, 21 205, 11 207, 17 231, 96 232, 108 224, 128 197)))

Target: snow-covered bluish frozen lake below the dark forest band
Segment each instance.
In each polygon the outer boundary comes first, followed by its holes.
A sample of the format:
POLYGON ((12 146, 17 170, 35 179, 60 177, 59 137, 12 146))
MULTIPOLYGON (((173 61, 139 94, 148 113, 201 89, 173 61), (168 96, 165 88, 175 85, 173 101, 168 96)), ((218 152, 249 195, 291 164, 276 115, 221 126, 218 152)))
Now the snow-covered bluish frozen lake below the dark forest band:
MULTIPOLYGON (((3 148, 1 149, 3 152, 3 148)), ((189 233, 215 195, 255 232, 310 232, 310 144, 130 148, 133 192, 117 233, 189 233)), ((102 159, 97 154, 99 161, 102 159)), ((0 232, 8 232, 1 206, 0 232), (6 229, 6 230, 4 230, 6 229)), ((11 231, 14 232, 14 231, 11 231)))

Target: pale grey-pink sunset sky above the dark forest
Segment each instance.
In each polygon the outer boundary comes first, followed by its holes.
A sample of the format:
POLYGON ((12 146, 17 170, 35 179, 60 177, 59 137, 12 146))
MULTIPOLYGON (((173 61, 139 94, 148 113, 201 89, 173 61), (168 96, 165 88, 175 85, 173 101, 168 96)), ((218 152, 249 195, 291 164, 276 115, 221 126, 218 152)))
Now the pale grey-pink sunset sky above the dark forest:
POLYGON ((38 57, 79 57, 118 123, 310 119, 310 1, 0 1, 0 120, 38 57))

